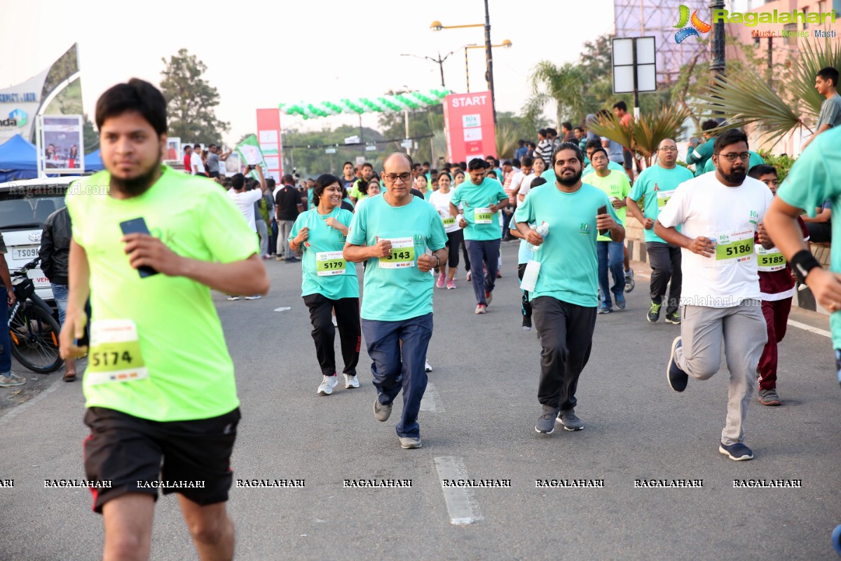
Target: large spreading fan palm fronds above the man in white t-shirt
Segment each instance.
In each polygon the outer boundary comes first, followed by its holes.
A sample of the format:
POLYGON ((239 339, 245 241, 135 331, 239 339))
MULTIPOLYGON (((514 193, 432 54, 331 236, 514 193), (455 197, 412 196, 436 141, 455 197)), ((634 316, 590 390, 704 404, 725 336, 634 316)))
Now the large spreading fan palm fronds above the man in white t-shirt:
POLYGON ((803 41, 801 51, 789 63, 790 68, 779 77, 776 87, 747 66, 738 65, 728 77, 706 87, 693 106, 727 119, 727 124, 715 133, 754 125, 772 146, 801 127, 811 132, 808 123, 817 119, 823 102, 814 87, 817 71, 824 66, 841 66, 841 44, 803 41))

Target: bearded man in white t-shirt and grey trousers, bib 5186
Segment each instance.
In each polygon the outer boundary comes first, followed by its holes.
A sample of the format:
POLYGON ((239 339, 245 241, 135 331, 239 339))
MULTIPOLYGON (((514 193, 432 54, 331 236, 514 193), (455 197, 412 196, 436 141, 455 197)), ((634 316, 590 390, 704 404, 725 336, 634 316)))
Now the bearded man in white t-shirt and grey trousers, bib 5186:
POLYGON ((744 420, 768 339, 754 240, 774 246, 762 225, 772 196, 764 183, 747 177, 750 154, 742 130, 719 135, 712 158, 716 171, 681 183, 654 222, 654 233, 680 246, 683 269, 683 318, 666 374, 678 392, 689 376, 710 378, 721 367, 723 336, 730 386, 718 451, 749 460, 754 453, 743 443, 744 420))

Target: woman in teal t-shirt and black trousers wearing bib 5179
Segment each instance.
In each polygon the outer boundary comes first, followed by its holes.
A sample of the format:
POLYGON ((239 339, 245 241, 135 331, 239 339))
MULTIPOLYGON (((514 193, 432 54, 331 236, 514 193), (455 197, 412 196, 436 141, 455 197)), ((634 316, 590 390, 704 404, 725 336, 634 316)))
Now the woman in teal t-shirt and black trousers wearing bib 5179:
POLYGON ((315 208, 298 215, 289 244, 294 251, 303 251, 301 296, 309 308, 313 324, 315 357, 323 376, 317 393, 330 395, 336 387, 336 351, 333 341, 336 327, 341 340, 341 356, 345 362, 345 388, 358 388, 357 363, 362 328, 359 324, 359 282, 357 267, 341 257, 347 240, 347 227, 353 214, 341 208, 344 189, 339 178, 330 174, 315 180, 315 208), (336 326, 332 311, 336 310, 336 326))

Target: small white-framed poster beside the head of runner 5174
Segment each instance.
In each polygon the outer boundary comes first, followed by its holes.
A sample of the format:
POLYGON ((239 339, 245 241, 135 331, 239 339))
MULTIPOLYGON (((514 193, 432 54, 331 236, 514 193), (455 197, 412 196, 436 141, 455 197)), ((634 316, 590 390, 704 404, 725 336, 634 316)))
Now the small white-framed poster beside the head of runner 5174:
POLYGON ((40 170, 49 173, 83 173, 85 146, 82 115, 39 116, 40 170))

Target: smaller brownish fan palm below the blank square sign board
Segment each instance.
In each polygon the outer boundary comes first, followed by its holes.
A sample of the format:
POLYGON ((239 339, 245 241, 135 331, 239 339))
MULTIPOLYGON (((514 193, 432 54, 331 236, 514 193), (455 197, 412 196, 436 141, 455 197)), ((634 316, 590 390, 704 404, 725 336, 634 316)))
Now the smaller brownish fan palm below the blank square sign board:
POLYGON ((689 111, 680 105, 664 105, 659 111, 641 114, 631 126, 625 126, 614 114, 606 114, 600 119, 590 121, 589 130, 596 135, 605 136, 622 146, 630 147, 645 159, 646 167, 651 165, 651 158, 657 152, 660 142, 674 139, 680 135, 683 124, 689 118, 689 111))

